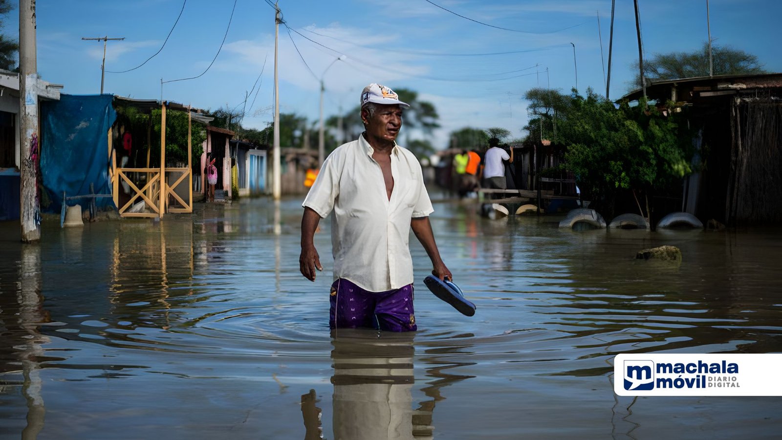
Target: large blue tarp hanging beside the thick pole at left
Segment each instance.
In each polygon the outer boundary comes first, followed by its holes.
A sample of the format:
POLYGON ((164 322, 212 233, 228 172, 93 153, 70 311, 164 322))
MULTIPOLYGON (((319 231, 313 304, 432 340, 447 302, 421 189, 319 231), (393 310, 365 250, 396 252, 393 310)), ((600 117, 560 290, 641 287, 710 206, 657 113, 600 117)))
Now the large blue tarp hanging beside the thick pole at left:
MULTIPOLYGON (((111 193, 108 132, 117 113, 112 95, 64 95, 59 101, 41 103, 41 177, 52 204, 46 211, 59 212, 63 191, 67 197, 111 193)), ((89 200, 79 200, 88 207, 89 200)), ((71 206, 75 202, 69 202, 71 206)), ((111 197, 95 199, 98 207, 113 206, 111 197)))

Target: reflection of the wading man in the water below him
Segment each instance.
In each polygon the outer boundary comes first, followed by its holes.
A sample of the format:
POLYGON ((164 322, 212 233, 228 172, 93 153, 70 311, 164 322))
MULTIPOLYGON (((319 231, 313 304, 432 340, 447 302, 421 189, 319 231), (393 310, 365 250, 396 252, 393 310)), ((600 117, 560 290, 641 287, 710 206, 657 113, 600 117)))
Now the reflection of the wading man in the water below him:
MULTIPOLYGON (((444 361, 460 348, 430 348, 426 376, 434 377, 421 389, 429 399, 412 409, 415 383, 415 332, 393 333, 370 329, 332 330, 332 424, 339 440, 431 439, 432 413, 444 400, 441 388, 472 376, 445 370, 460 366, 444 361)), ((461 364, 461 366, 468 364, 461 364)), ((305 440, 322 438, 321 408, 314 390, 301 396, 305 440)))

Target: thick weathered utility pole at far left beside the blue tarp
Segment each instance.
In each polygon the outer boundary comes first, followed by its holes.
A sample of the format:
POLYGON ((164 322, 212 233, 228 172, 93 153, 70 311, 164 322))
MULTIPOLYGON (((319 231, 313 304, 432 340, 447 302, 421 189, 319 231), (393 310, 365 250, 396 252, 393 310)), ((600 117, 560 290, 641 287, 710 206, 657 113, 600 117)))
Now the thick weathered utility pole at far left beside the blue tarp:
POLYGON ((41 153, 38 148, 38 62, 35 38, 35 0, 20 0, 20 222, 24 243, 41 240, 41 207, 38 200, 38 157, 41 153))

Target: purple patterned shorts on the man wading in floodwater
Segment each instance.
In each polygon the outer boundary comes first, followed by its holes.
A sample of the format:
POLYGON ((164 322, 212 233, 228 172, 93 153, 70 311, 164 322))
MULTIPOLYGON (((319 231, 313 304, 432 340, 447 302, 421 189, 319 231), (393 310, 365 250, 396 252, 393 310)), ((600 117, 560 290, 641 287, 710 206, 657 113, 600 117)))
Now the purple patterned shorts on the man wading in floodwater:
POLYGON ((372 327, 388 331, 415 331, 413 285, 385 292, 370 292, 344 278, 332 284, 328 326, 372 327))

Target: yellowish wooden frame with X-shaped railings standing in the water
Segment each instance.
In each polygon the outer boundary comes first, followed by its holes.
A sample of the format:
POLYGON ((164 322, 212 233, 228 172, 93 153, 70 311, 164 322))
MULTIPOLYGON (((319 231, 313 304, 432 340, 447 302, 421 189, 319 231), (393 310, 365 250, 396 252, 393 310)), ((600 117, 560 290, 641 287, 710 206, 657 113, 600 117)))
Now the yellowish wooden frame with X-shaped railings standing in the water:
POLYGON ((142 218, 163 218, 166 212, 181 213, 192 212, 192 114, 190 106, 180 106, 174 103, 161 103, 160 116, 160 167, 149 166, 150 146, 147 146, 147 166, 145 168, 121 168, 117 167, 117 154, 112 145, 112 129, 109 128, 109 157, 111 157, 111 167, 109 168, 109 179, 112 185, 112 195, 115 206, 120 211, 121 217, 142 217, 142 218), (187 168, 166 167, 166 111, 170 106, 181 107, 188 112, 188 166, 187 168), (132 181, 128 173, 146 173, 146 183, 142 188, 132 181), (169 185, 167 177, 170 174, 179 173, 178 179, 174 184, 169 185), (176 192, 176 188, 181 182, 188 182, 188 200, 185 201, 176 192), (127 183, 133 190, 131 200, 128 200, 120 207, 120 182, 127 183), (182 207, 169 207, 171 198, 178 201, 182 207), (137 200, 143 200, 145 206, 149 207, 151 212, 129 212, 128 209, 133 206, 137 200))

